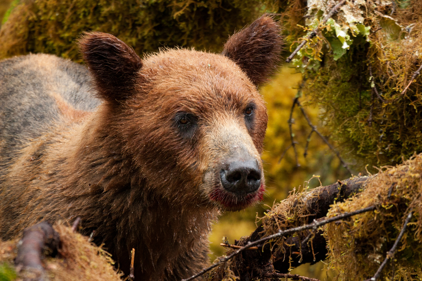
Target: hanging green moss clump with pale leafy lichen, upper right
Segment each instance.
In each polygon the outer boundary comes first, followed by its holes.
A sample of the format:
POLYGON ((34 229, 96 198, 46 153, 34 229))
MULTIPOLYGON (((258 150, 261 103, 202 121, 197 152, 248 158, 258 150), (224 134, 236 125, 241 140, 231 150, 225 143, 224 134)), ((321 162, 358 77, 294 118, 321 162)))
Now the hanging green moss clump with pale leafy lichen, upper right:
POLYGON ((335 3, 295 0, 284 12, 292 50, 319 27, 293 59, 307 79, 308 104, 323 109, 344 155, 400 163, 422 152, 422 80, 410 83, 422 64, 422 2, 346 1, 324 24, 335 3))

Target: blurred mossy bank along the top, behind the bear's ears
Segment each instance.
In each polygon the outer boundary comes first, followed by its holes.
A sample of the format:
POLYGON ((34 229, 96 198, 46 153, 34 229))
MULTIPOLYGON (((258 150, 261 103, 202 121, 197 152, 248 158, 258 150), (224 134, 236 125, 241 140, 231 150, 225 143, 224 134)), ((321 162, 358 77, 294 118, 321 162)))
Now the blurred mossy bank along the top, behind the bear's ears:
POLYGON ((21 0, 0 31, 0 59, 48 53, 79 61, 76 39, 107 32, 138 54, 160 47, 218 51, 265 10, 260 0, 21 0))

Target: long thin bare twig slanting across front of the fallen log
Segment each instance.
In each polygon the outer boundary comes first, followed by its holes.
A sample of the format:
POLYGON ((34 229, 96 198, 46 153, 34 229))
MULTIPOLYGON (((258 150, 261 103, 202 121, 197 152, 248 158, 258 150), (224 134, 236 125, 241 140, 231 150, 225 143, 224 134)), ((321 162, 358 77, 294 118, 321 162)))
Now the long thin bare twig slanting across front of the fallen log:
POLYGON ((303 231, 303 230, 306 230, 306 229, 314 229, 314 230, 317 230, 318 227, 320 227, 322 225, 326 225, 327 223, 335 222, 337 220, 345 219, 347 217, 352 217, 352 216, 354 216, 356 214, 365 213, 367 211, 373 211, 375 209, 376 209, 375 206, 369 206, 369 207, 366 207, 366 208, 363 208, 363 209, 360 209, 360 210, 357 210, 357 211, 352 211, 352 212, 346 212, 346 213, 343 213, 343 214, 339 214, 339 215, 337 215, 335 217, 330 217, 328 219, 321 219, 321 220, 318 220, 318 221, 317 220, 314 220, 314 222, 312 222, 312 223, 310 223, 308 225, 302 225, 302 226, 298 226, 298 227, 292 227, 292 228, 288 228, 286 230, 279 230, 278 233, 274 233, 274 234, 272 234, 270 236, 266 236, 264 238, 258 239, 258 240, 253 241, 253 242, 250 242, 249 241, 248 244, 246 244, 246 246, 243 246, 242 248, 237 249, 235 252, 233 252, 232 254, 229 254, 226 257, 220 257, 218 262, 212 264, 208 268, 204 268, 199 273, 197 273, 197 274, 195 274, 195 275, 193 275, 193 276, 191 276, 189 278, 182 279, 181 281, 190 281, 190 280, 193 280, 193 279, 195 279, 195 278, 203 275, 204 273, 210 271, 211 269, 217 267, 218 265, 221 265, 222 263, 227 262, 227 260, 230 260, 232 257, 238 255, 239 253, 243 252, 244 250, 246 250, 246 249, 248 249, 248 248, 250 248, 252 246, 264 244, 265 241, 268 241, 268 240, 271 240, 271 239, 274 239, 274 238, 278 238, 278 237, 281 237, 281 236, 286 236, 287 234, 296 233, 296 232, 303 231))

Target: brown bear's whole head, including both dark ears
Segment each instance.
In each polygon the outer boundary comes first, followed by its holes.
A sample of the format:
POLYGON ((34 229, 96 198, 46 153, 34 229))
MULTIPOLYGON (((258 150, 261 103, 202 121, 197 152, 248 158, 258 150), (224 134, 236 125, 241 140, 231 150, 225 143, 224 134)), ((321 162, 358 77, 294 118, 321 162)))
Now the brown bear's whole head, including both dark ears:
POLYGON ((257 85, 276 65, 279 32, 263 16, 233 35, 223 54, 173 49, 143 60, 112 35, 81 39, 133 168, 154 183, 151 188, 181 187, 154 193, 183 206, 232 211, 262 199, 268 117, 257 85))

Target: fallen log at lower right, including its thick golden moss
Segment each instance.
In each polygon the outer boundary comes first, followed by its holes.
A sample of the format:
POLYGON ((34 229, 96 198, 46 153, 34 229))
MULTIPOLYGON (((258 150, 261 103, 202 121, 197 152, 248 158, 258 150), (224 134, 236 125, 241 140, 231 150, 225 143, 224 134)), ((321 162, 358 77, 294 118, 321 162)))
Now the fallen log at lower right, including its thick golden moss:
MULTIPOLYGON (((382 276, 393 280, 422 278, 422 154, 395 167, 382 168, 370 177, 355 177, 311 191, 293 192, 276 203, 262 217, 262 225, 236 245, 270 236, 279 230, 305 225, 313 219, 334 217, 345 212, 371 208, 373 211, 331 222, 318 229, 297 232, 293 236, 269 240, 258 250, 245 250, 214 272, 210 280, 221 280, 228 273, 243 280, 262 273, 289 268, 328 257, 329 266, 340 272, 341 280, 371 278, 387 257, 403 228, 407 225, 395 257, 390 257, 382 276), (350 197, 349 197, 350 196, 350 197), (374 209, 375 208, 375 209, 374 209)), ((227 254, 233 252, 230 249, 227 254)), ((382 277, 381 276, 381 277, 382 277)))

